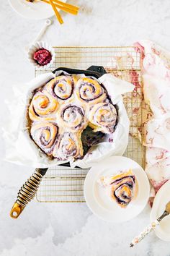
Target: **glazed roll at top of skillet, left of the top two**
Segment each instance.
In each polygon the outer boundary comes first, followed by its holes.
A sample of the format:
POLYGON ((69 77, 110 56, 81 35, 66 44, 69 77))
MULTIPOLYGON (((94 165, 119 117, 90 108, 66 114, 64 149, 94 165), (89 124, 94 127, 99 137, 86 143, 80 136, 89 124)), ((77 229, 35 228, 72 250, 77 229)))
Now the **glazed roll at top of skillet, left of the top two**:
POLYGON ((71 98, 71 95, 73 94, 75 83, 75 76, 61 75, 48 82, 45 88, 54 97, 57 96, 61 100, 67 100, 68 98, 71 98))

